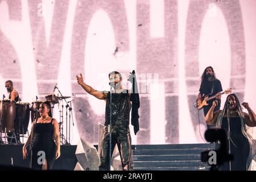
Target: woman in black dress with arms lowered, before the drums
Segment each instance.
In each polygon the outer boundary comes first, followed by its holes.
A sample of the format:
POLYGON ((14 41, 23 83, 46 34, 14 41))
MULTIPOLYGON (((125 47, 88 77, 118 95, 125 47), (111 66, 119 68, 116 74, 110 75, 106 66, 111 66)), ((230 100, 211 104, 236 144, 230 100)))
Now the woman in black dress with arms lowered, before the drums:
POLYGON ((26 147, 31 143, 31 168, 47 170, 52 168, 54 160, 60 156, 59 123, 56 119, 51 118, 50 104, 48 102, 40 104, 39 113, 40 118, 35 119, 32 123, 31 134, 23 146, 23 158, 26 158, 26 147), (56 144, 53 140, 54 138, 56 144))

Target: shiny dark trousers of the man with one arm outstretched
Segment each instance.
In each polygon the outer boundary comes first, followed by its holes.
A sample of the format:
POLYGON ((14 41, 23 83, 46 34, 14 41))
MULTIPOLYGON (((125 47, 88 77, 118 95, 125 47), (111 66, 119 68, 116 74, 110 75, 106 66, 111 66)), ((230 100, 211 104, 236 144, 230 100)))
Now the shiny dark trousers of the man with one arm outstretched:
MULTIPOLYGON (((103 137, 100 146, 99 170, 109 170, 109 133, 108 126, 104 126, 103 137)), ((132 170, 132 142, 128 126, 112 126, 111 129, 111 153, 117 144, 121 163, 124 171, 132 170)), ((111 154, 111 156, 112 156, 111 154)))

